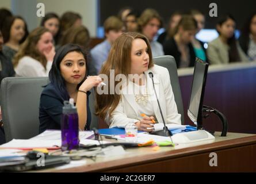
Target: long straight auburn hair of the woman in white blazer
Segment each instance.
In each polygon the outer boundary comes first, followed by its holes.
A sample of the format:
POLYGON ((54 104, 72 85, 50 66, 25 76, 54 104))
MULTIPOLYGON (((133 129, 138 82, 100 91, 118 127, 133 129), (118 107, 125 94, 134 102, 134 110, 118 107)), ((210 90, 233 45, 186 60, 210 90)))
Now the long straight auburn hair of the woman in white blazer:
MULTIPOLYGON (((96 93, 96 115, 102 119, 105 119, 107 114, 111 116, 114 109, 116 109, 119 101, 121 99, 120 94, 110 94, 110 70, 114 70, 114 78, 119 74, 124 74, 128 78, 128 74, 131 72, 131 49, 132 41, 135 39, 142 39, 146 42, 148 47, 148 55, 150 61, 148 63, 148 68, 154 66, 152 62, 152 52, 150 47, 150 42, 148 39, 140 33, 127 32, 121 34, 120 37, 114 41, 112 48, 110 49, 108 59, 102 66, 100 74, 105 74, 108 76, 108 94, 98 94, 96 93)), ((114 82, 114 87, 116 88, 118 81, 114 82)))

